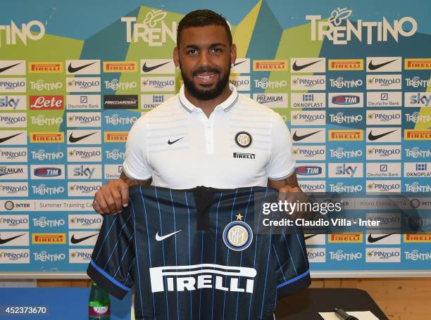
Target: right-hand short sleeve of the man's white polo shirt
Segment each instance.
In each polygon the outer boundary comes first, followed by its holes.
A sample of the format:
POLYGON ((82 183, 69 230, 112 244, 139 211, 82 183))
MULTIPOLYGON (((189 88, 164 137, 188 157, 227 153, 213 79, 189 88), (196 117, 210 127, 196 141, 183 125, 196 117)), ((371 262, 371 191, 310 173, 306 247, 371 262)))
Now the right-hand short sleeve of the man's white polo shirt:
POLYGON ((294 172, 292 138, 282 117, 275 112, 270 143, 270 162, 266 168, 266 174, 271 180, 284 180, 294 172))

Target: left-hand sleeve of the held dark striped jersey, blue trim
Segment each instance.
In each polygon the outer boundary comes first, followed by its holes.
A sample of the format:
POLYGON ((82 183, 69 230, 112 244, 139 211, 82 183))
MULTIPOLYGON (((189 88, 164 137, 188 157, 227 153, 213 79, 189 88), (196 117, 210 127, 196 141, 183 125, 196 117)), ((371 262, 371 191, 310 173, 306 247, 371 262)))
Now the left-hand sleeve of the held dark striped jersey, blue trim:
POLYGON ((128 207, 117 215, 104 216, 87 268, 89 277, 118 299, 123 299, 133 286, 134 220, 128 207))

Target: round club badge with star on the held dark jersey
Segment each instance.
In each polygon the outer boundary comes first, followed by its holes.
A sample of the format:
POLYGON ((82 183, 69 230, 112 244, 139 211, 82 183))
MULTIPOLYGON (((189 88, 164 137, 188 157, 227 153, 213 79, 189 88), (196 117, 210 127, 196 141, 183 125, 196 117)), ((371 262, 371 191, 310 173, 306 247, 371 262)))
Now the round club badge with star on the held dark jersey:
POLYGON ((223 231, 223 241, 227 248, 235 251, 242 251, 249 248, 251 241, 253 240, 253 231, 248 224, 241 221, 242 215, 239 213, 237 221, 232 221, 223 231))

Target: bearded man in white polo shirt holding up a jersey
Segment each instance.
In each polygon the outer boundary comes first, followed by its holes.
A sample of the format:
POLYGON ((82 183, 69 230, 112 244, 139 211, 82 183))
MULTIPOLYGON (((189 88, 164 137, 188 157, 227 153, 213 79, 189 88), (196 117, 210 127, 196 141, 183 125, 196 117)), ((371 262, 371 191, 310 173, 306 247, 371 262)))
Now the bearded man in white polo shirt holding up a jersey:
POLYGON ((141 117, 130 130, 123 172, 94 196, 99 214, 127 206, 130 186, 277 188, 300 193, 289 131, 280 115, 229 84, 237 48, 226 20, 208 10, 180 21, 173 60, 180 94, 141 117))

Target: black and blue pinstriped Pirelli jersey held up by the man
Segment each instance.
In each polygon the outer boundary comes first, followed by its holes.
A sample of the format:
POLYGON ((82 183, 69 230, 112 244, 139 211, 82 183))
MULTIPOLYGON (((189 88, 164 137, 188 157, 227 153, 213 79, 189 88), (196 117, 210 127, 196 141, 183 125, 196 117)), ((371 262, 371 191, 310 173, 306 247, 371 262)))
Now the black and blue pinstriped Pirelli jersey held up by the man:
POLYGON ((123 212, 104 217, 87 274, 118 298, 134 287, 136 319, 273 319, 277 298, 311 282, 301 229, 259 230, 277 196, 131 187, 123 212))

